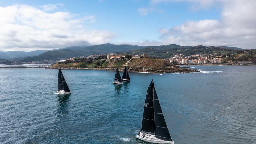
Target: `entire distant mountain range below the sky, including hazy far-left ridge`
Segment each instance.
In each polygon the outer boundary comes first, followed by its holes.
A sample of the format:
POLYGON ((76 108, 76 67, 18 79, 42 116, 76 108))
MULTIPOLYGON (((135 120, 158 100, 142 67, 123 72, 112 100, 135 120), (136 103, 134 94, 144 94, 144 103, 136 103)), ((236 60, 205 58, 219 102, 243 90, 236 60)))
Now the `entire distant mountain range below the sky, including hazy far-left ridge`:
MULTIPOLYGON (((198 47, 198 46, 196 46, 198 47)), ((205 46, 202 46, 205 47, 205 46)), ((193 48, 193 46, 180 46, 176 44, 171 45, 159 45, 159 46, 138 46, 138 45, 113 45, 110 43, 101 44, 101 45, 92 45, 92 46, 72 46, 65 47, 61 49, 54 50, 37 50, 37 51, 0 51, 0 58, 2 59, 12 59, 12 58, 23 58, 22 61, 43 61, 49 59, 58 59, 58 58, 70 58, 76 56, 89 56, 91 54, 102 54, 102 53, 125 53, 126 51, 136 51, 140 49, 156 49, 162 52, 168 52, 168 49, 189 49, 193 48)), ((233 50, 242 50, 237 47, 226 47, 221 46, 219 48, 223 49, 233 49, 233 50)), ((137 52, 143 52, 137 51, 137 52)), ((144 51, 147 52, 147 51, 144 51)))

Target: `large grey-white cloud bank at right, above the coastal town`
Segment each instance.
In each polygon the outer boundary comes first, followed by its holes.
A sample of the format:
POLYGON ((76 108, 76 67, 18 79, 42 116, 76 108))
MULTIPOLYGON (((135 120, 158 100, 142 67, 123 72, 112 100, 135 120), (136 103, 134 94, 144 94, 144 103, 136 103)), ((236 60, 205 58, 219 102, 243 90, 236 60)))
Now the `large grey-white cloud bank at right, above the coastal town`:
MULTIPOLYGON (((168 0, 152 0, 152 3, 168 0)), ((182 0, 176 0, 182 1, 182 0)), ((191 0, 187 0, 192 2, 191 0)), ((204 19, 187 21, 170 29, 162 28, 159 41, 145 40, 138 45, 206 45, 234 46, 255 49, 256 45, 256 1, 255 0, 195 0, 202 8, 222 2, 221 20, 204 19), (207 3, 209 2, 209 3, 207 3), (205 6, 205 7, 204 7, 205 6)), ((135 44, 135 43, 134 43, 135 44)))

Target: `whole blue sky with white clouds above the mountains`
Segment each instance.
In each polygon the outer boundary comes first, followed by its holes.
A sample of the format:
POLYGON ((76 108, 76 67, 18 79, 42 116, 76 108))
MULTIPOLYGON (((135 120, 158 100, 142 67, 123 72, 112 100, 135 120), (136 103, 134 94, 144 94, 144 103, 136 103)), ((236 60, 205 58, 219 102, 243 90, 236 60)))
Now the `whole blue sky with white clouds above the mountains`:
POLYGON ((256 49, 255 0, 0 0, 0 51, 103 43, 256 49))

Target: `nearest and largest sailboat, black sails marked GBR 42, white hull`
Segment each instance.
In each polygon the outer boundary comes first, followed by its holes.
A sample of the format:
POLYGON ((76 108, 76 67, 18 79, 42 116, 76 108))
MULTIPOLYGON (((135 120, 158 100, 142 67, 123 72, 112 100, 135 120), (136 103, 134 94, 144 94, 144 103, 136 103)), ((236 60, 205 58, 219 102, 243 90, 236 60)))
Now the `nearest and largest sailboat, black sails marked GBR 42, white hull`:
POLYGON ((149 143, 174 143, 163 116, 153 79, 147 88, 141 131, 136 138, 149 143))

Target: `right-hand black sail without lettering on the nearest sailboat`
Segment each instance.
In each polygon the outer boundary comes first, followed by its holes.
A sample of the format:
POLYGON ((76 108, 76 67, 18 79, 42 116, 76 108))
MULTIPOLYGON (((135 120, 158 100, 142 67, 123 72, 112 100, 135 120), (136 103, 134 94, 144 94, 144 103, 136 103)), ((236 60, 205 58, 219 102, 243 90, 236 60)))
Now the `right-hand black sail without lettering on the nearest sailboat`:
POLYGON ((155 115, 155 135, 156 138, 165 141, 172 141, 168 127, 166 125, 163 112, 154 87, 154 115, 155 115))

